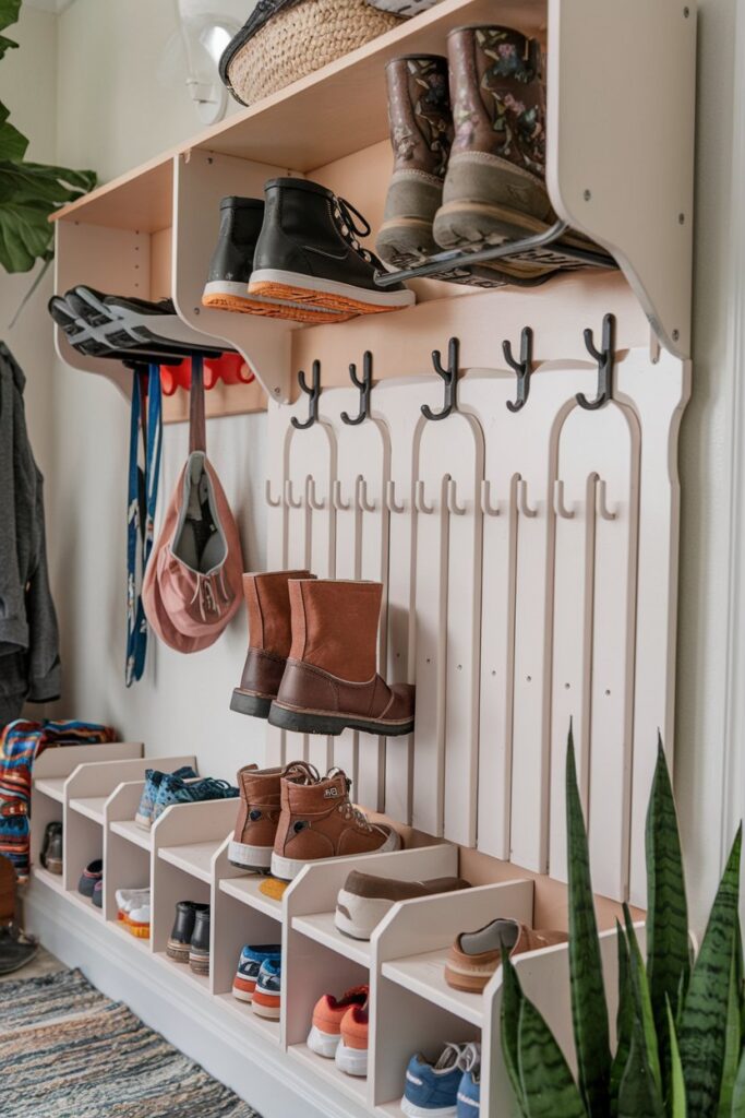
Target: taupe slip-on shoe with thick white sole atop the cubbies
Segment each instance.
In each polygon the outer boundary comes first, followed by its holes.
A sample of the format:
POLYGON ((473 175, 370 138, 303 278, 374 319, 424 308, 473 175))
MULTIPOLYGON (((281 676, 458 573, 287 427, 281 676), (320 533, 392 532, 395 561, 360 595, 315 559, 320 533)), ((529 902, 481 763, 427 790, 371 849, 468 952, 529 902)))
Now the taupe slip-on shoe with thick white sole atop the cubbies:
POLYGON ((464 878, 434 878, 431 881, 395 881, 353 870, 336 898, 334 923, 352 939, 370 939, 373 931, 399 901, 436 893, 470 889, 464 878))

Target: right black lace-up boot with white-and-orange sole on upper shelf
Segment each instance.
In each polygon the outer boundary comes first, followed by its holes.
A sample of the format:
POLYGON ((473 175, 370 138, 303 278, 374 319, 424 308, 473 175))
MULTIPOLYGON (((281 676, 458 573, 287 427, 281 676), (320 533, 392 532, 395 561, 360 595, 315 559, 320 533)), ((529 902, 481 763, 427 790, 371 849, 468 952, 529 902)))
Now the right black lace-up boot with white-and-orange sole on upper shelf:
POLYGON ((265 195, 264 226, 248 285, 251 295, 336 311, 345 318, 399 311, 416 302, 403 284, 386 288, 375 284, 375 272, 383 265, 360 244, 357 238, 371 229, 350 202, 305 179, 271 179, 265 195))

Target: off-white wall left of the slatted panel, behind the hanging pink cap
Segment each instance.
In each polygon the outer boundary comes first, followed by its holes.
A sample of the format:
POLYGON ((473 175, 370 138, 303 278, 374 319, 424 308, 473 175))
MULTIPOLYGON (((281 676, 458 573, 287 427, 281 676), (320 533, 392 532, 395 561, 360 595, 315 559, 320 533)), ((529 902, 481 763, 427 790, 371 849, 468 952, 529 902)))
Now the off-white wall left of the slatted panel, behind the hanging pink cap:
MULTIPOLYGON (((170 0, 76 0, 59 17, 59 159, 103 180, 200 129, 185 91, 156 67, 175 28, 170 0)), ((235 778, 262 759, 264 723, 231 713, 246 654, 241 610, 210 650, 182 656, 151 637, 145 679, 124 686, 127 404, 108 383, 57 363, 59 432, 50 550, 63 629, 64 709, 114 724, 150 752, 193 750, 206 774, 235 778)), ((209 424, 210 456, 239 520, 245 569, 264 566, 262 417, 209 424)), ((161 508, 188 452, 185 425, 164 437, 161 508)))

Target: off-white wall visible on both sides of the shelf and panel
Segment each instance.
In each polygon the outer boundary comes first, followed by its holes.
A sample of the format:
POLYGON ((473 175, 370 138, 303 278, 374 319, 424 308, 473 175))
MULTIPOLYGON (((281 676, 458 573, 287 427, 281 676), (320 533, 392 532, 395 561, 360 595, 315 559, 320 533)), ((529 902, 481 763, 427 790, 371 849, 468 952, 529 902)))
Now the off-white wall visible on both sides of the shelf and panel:
MULTIPOLYGON (((681 444, 676 743, 676 786, 697 922, 710 902, 722 859, 735 383, 729 266, 732 229, 737 225, 730 207, 742 206, 742 188, 733 195, 730 182, 736 8, 737 0, 699 3, 696 367, 681 444)), ((29 42, 32 26, 47 19, 25 13, 22 30, 29 42)), ((173 26, 170 0, 76 0, 58 22, 63 161, 93 165, 105 179, 197 130, 185 95, 164 93, 155 80, 160 51, 173 26)), ((42 135, 48 140, 54 116, 48 111, 52 36, 48 25, 45 28, 46 63, 39 66, 35 58, 32 92, 23 103, 29 113, 37 113, 39 142, 42 135), (46 83, 41 89, 39 80, 46 83), (39 111, 42 106, 46 112, 39 111)), ((9 74, 10 68, 0 70, 0 92, 7 89, 9 74)), ((633 79, 632 66, 629 77, 633 79)), ((4 287, 0 294, 4 307, 4 287)), ((36 321, 46 347, 48 324, 41 314, 36 321)), ((151 750, 193 748, 206 769, 229 777, 238 764, 258 759, 261 747, 261 723, 228 711, 245 651, 242 618, 213 650, 197 657, 157 648, 146 681, 130 692, 124 689, 127 408, 109 386, 61 366, 55 370, 52 400, 57 438, 50 543, 64 631, 66 712, 109 720, 127 737, 142 737, 151 750)), ((48 414, 40 409, 39 423, 45 421, 48 414)), ((247 568, 260 567, 264 557, 264 428, 260 417, 239 418, 216 421, 209 433, 217 468, 240 515, 247 568)), ((169 428, 165 443, 162 493, 168 495, 185 453, 185 430, 169 428)))

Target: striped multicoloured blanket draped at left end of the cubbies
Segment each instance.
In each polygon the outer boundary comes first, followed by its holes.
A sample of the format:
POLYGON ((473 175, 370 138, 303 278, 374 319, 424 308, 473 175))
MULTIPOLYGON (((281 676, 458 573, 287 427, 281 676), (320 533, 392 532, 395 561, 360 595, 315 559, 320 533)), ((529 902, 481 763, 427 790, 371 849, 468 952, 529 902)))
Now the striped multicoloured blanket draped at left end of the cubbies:
POLYGON ((115 741, 116 733, 95 722, 29 722, 18 719, 0 732, 0 855, 9 858, 20 881, 29 875, 29 816, 34 761, 57 746, 115 741))

